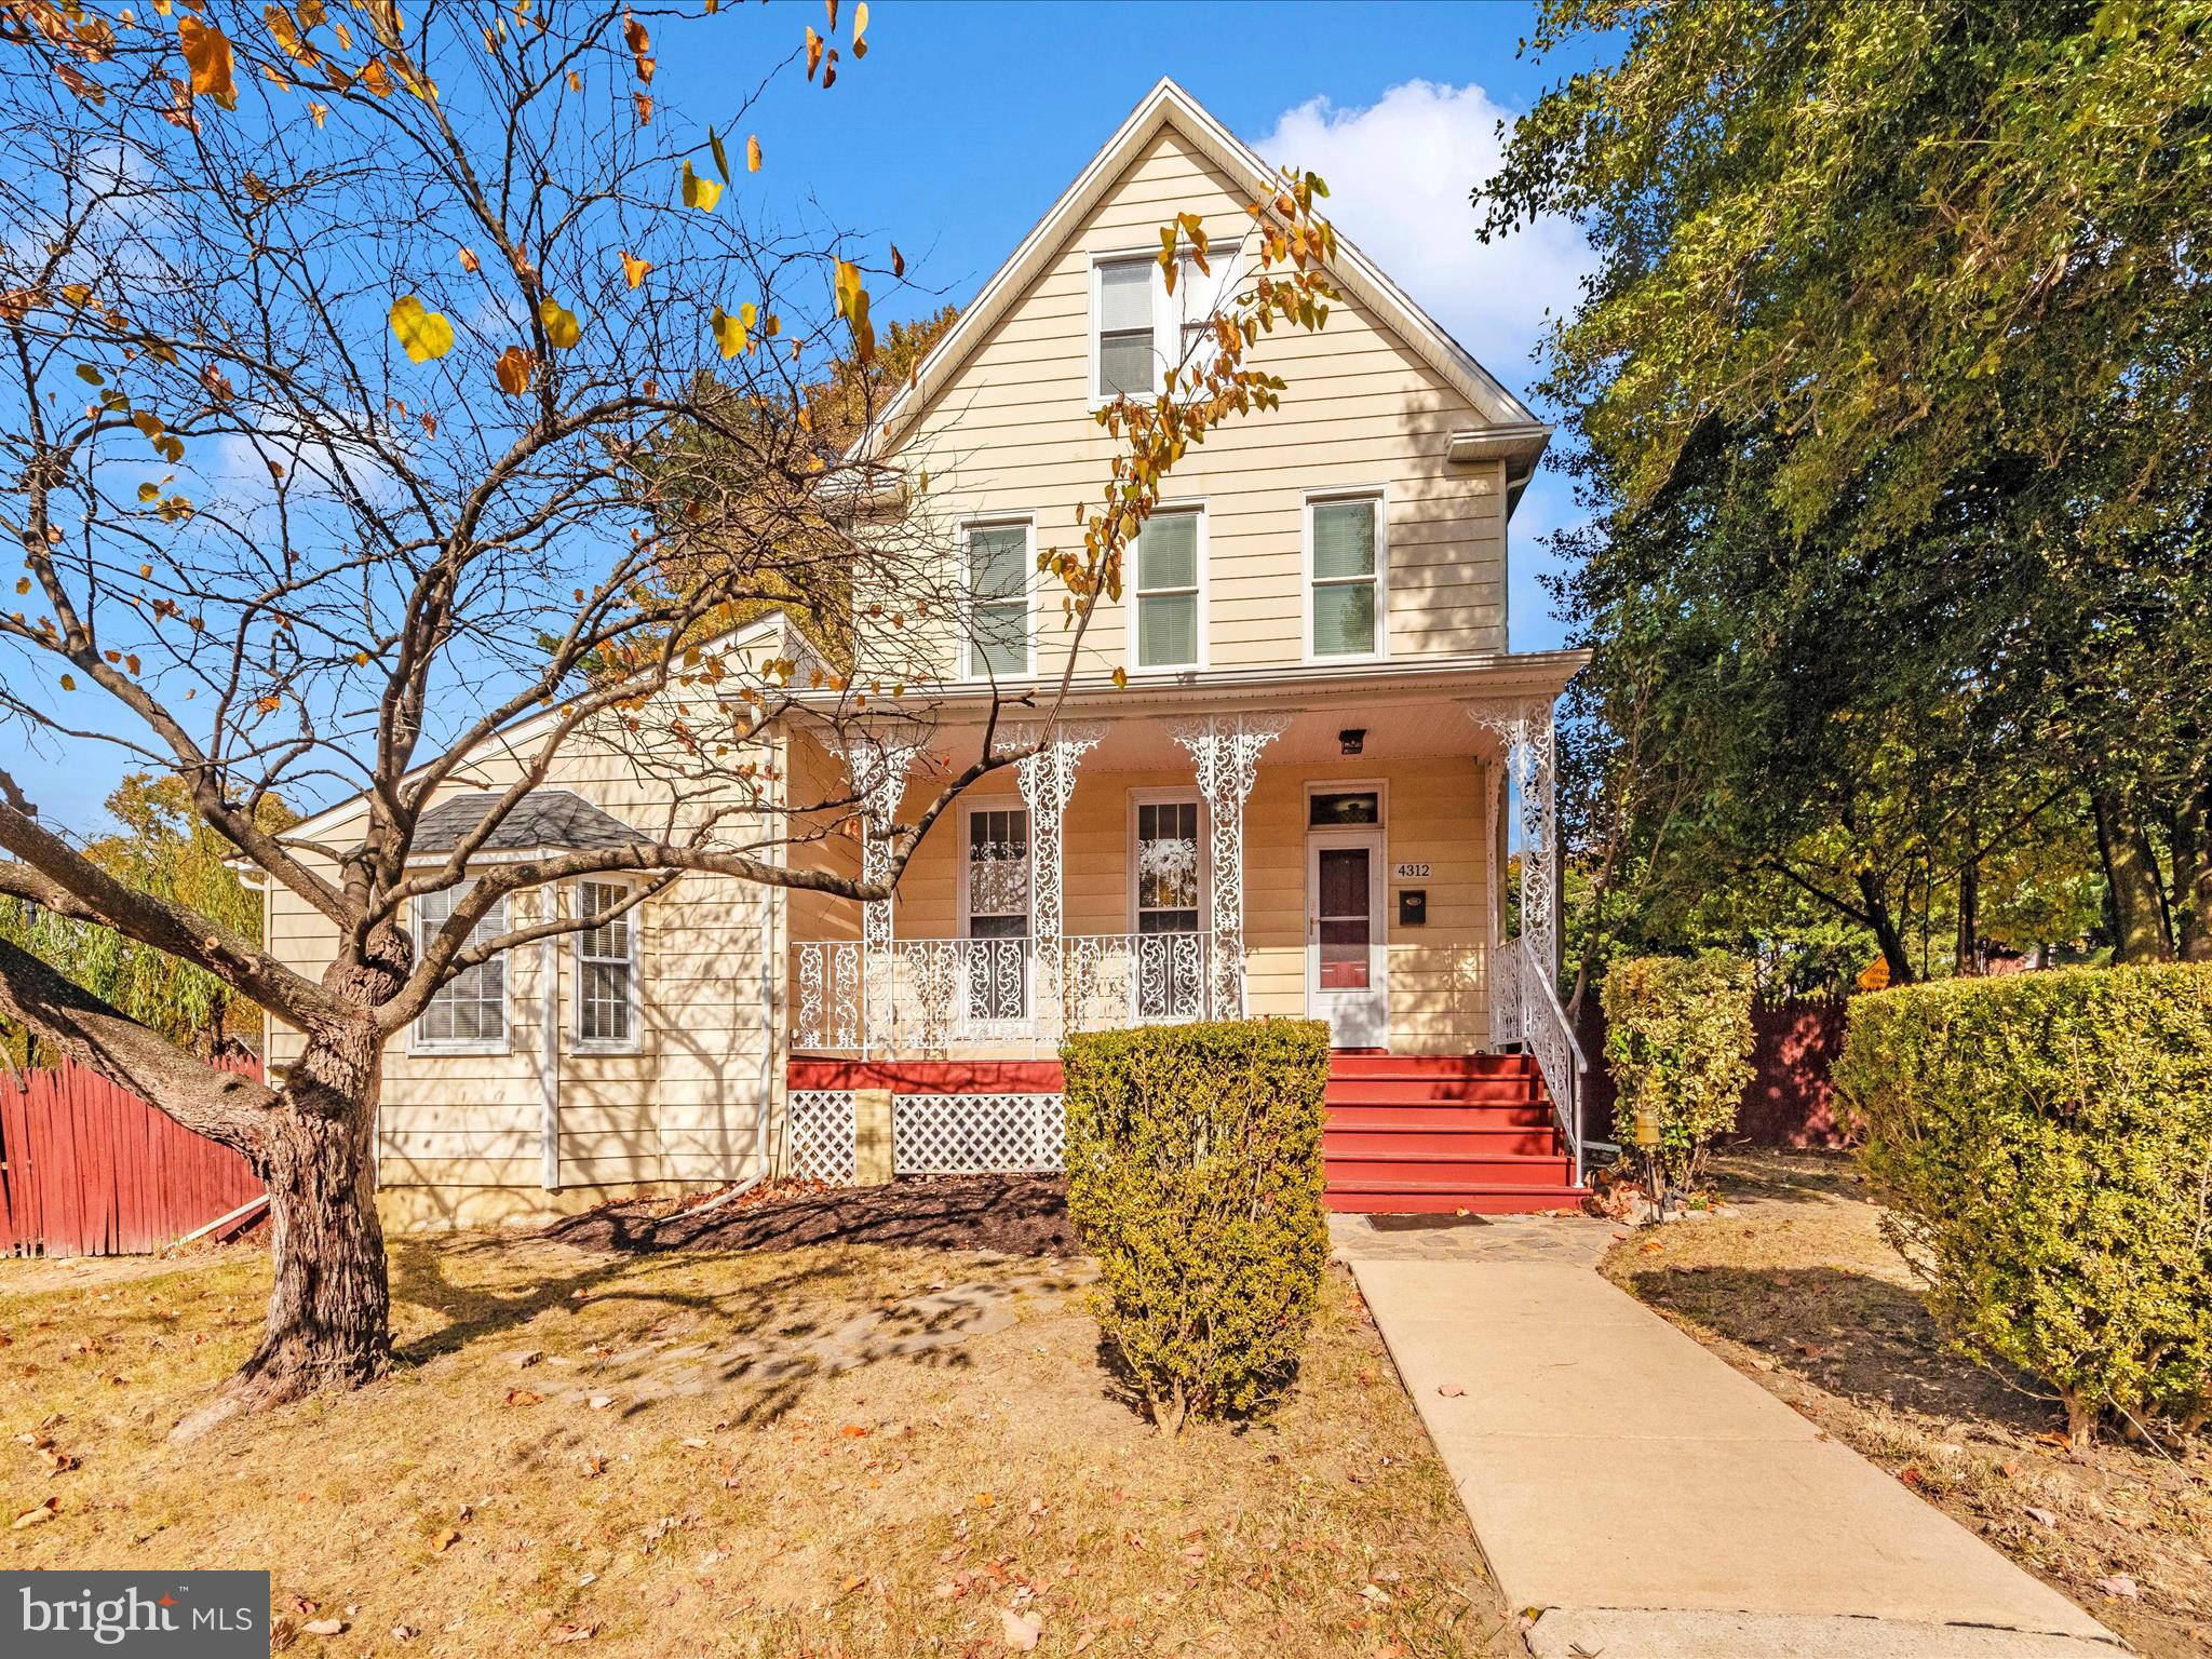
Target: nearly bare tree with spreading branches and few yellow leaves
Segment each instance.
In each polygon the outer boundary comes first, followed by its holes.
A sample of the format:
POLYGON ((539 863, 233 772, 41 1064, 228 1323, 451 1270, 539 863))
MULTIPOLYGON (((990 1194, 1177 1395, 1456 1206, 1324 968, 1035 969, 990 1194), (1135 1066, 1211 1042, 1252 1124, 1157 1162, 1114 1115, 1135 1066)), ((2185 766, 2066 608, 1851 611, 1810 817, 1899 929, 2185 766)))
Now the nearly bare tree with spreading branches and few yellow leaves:
MULTIPOLYGON (((336 945, 307 978, 126 887, 0 772, 0 894, 206 969, 301 1051, 279 1082, 208 1071, 7 942, 0 1009, 268 1179, 265 1336, 204 1422, 387 1367, 385 1044, 456 973, 617 914, 546 905, 478 938, 509 894, 639 872, 639 902, 717 872, 883 898, 958 792, 1022 750, 991 741, 993 699, 973 757, 889 830, 883 880, 783 856, 858 803, 787 799, 752 734, 803 717, 867 741, 885 692, 929 668, 922 628, 847 626, 852 595, 958 617, 927 513, 869 511, 880 465, 805 418, 836 354, 869 358, 867 285, 896 292, 896 250, 745 206, 759 153, 730 150, 759 88, 703 137, 653 106, 659 33, 761 62, 783 24, 706 15, 712 0, 442 0, 409 20, 389 0, 179 4, 0 7, 0 449, 27 571, 0 617, 0 719, 179 779, 336 945), (812 659, 717 644, 765 606, 812 624, 812 659), (666 816, 630 845, 471 865, 582 741, 666 776, 666 816), (411 856, 487 745, 511 752, 511 787, 447 856, 411 856), (274 834, 279 792, 358 794, 358 838, 274 834), (451 914, 416 949, 407 907, 440 889, 451 914)), ((772 73, 803 55, 827 91, 821 53, 807 31, 772 73)), ((1318 327, 1334 239, 1316 192, 1292 175, 1261 192, 1256 279, 1214 316, 1208 361, 1177 396, 1108 411, 1113 476, 1084 544, 1051 553, 1077 637, 1183 445, 1274 403, 1281 380, 1245 361, 1261 327, 1318 327)), ((1170 254, 1194 239, 1203 259, 1194 217, 1175 232, 1170 254)), ((929 717, 914 697, 900 712, 929 717)))

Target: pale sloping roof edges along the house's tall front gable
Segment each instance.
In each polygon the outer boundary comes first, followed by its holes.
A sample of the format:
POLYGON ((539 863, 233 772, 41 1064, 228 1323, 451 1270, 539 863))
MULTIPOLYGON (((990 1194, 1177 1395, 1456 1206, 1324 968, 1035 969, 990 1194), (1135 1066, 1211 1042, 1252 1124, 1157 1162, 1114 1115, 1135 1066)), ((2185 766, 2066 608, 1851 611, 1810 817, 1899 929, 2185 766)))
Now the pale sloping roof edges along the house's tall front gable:
MULTIPOLYGON (((1075 184, 1062 190, 1060 201, 1051 206, 1013 254, 1006 257, 1006 263, 969 301, 967 310, 960 312, 960 321, 916 365, 914 376, 898 396, 860 434, 860 440, 847 456, 849 460, 876 460, 900 440, 905 427, 951 383, 975 347, 989 338, 998 321, 1013 310, 1015 301, 1060 254, 1068 237, 1075 234, 1075 228, 1106 197, 1113 181, 1170 126, 1208 161, 1232 179, 1248 184, 1254 192, 1272 192, 1281 181, 1281 175, 1250 144, 1221 126, 1199 100, 1172 80, 1161 77, 1144 95, 1144 102, 1130 111, 1115 135, 1106 139, 1106 148, 1091 157, 1091 164, 1075 175, 1075 184)), ((1416 305, 1380 265, 1343 234, 1336 237, 1336 263, 1329 268, 1329 279, 1343 294, 1387 323, 1422 363, 1444 376, 1489 420, 1484 436, 1504 440, 1504 451, 1511 451, 1506 456, 1509 465, 1520 462, 1517 471, 1522 473, 1535 469, 1537 456, 1551 442, 1551 427, 1537 420, 1526 403, 1506 392, 1489 369, 1475 363, 1464 345, 1444 332, 1442 323, 1416 305)))

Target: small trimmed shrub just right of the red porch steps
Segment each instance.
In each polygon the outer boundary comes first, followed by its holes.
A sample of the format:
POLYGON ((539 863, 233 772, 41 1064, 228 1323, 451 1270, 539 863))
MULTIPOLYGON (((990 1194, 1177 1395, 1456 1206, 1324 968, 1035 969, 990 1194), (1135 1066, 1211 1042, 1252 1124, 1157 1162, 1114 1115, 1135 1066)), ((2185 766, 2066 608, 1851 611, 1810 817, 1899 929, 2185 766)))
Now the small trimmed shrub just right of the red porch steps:
POLYGON ((1688 1190, 1705 1150, 1736 1128, 1752 1086, 1752 964, 1708 956, 1630 956, 1606 971, 1606 1071, 1613 1139, 1637 1144, 1637 1115, 1659 1121, 1659 1168, 1688 1190))

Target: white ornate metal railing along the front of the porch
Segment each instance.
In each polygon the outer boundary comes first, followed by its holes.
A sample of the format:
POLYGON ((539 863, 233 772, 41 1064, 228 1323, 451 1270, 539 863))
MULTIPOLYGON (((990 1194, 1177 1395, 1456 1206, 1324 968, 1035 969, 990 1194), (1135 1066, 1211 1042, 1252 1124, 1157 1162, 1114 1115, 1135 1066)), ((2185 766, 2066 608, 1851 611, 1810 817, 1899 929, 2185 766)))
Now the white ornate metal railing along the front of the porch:
POLYGON ((830 1053, 945 1053, 1046 1044, 1206 1018, 1219 949, 1210 933, 807 940, 794 947, 792 1046, 830 1053))

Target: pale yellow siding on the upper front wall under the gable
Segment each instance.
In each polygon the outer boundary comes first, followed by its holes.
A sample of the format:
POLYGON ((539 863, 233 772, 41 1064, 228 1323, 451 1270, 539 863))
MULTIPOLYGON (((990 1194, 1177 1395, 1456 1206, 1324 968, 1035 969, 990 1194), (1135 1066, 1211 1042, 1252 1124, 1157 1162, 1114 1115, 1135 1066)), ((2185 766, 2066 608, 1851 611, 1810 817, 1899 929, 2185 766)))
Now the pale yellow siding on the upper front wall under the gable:
MULTIPOLYGON (((1029 515, 1040 551, 1079 538, 1071 509, 1099 495, 1115 453, 1091 418, 1091 261, 1157 252, 1179 210, 1203 215, 1214 248, 1230 248, 1250 228, 1245 199, 1164 131, 902 440, 900 462, 931 480, 916 522, 947 546, 969 515, 1029 515)), ((1332 489, 1387 495, 1389 657, 1504 650, 1504 467, 1444 458, 1444 438, 1482 416, 1349 299, 1321 334, 1263 336, 1252 363, 1290 383, 1283 407, 1232 420, 1166 487, 1168 500, 1206 504, 1208 666, 1303 659, 1305 493, 1332 489)), ((1051 672, 1066 655, 1062 595, 1040 584, 1037 666, 1051 672)), ((1082 666, 1110 672, 1124 659, 1124 606, 1102 604, 1082 666)))

